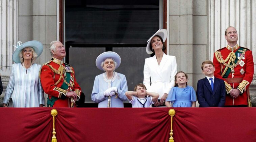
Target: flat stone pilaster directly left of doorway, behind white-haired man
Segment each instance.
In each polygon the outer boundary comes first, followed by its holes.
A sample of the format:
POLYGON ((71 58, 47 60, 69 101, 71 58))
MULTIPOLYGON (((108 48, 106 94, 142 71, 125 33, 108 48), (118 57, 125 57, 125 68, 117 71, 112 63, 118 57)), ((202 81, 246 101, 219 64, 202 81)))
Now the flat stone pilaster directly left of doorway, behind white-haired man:
POLYGON ((50 42, 57 40, 57 1, 56 0, 33 0, 33 40, 42 42, 43 53, 37 64, 43 65, 51 59, 49 52, 50 42))

